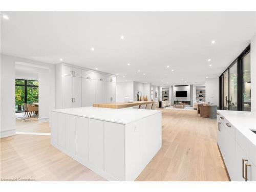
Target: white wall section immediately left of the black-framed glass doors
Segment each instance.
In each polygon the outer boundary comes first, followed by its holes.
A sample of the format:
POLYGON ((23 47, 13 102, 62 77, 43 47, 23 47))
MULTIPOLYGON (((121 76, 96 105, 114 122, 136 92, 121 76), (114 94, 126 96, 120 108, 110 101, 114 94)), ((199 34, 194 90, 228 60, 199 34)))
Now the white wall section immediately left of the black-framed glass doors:
POLYGON ((205 81, 205 102, 219 105, 218 103, 218 92, 219 84, 217 78, 207 78, 205 81))

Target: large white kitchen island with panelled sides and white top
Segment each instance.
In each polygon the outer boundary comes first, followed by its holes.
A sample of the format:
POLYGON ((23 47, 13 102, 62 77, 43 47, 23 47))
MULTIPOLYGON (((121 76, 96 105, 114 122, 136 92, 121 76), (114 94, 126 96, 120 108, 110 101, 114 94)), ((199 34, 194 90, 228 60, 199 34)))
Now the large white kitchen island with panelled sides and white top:
POLYGON ((162 146, 161 111, 51 112, 51 144, 109 181, 134 181, 162 146))

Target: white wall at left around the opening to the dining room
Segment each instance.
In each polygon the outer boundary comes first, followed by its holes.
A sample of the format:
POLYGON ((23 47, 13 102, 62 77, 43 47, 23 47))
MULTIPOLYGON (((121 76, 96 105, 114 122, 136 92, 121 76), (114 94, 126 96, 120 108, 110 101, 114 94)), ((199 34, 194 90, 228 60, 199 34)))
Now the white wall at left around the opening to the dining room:
POLYGON ((42 72, 38 73, 39 102, 43 103, 39 105, 39 118, 49 118, 50 110, 55 109, 54 65, 1 54, 1 137, 15 134, 15 63, 39 68, 42 72), (40 81, 45 83, 41 82, 40 86, 40 81))

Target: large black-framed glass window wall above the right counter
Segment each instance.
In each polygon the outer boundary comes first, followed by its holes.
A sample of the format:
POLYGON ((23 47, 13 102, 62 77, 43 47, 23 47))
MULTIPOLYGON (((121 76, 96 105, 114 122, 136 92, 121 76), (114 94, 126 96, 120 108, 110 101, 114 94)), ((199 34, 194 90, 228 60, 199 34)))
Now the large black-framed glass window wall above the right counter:
POLYGON ((220 109, 251 111, 250 45, 220 76, 220 109))

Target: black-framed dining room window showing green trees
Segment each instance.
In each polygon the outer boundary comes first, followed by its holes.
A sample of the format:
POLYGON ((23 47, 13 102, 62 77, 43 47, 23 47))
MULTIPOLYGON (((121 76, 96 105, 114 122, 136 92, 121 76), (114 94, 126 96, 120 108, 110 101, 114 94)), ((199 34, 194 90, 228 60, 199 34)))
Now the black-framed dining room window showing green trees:
POLYGON ((24 103, 38 102, 38 81, 15 79, 15 112, 24 112, 24 103))

